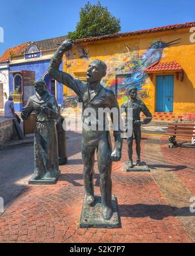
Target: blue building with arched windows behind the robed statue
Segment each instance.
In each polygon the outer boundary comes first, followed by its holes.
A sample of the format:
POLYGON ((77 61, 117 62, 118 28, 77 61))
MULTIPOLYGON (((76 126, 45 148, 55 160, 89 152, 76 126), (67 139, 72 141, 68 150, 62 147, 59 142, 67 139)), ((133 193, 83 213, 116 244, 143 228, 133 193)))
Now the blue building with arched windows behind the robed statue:
POLYGON ((63 85, 49 76, 48 67, 51 57, 63 40, 65 37, 30 42, 20 55, 10 57, 10 91, 21 95, 15 100, 16 111, 21 111, 27 99, 34 94, 33 82, 37 79, 45 80, 47 90, 55 95, 57 103, 62 107, 63 85))

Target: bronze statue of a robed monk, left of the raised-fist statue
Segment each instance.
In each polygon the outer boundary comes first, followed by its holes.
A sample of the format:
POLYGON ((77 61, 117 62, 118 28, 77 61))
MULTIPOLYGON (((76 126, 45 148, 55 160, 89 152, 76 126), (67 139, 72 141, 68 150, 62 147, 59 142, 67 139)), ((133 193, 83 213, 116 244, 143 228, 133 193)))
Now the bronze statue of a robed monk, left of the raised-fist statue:
POLYGON ((27 120, 36 113, 34 131, 34 174, 29 184, 53 184, 59 176, 58 144, 55 120, 60 116, 54 95, 49 94, 44 80, 34 82, 36 93, 29 97, 21 110, 21 118, 27 120))

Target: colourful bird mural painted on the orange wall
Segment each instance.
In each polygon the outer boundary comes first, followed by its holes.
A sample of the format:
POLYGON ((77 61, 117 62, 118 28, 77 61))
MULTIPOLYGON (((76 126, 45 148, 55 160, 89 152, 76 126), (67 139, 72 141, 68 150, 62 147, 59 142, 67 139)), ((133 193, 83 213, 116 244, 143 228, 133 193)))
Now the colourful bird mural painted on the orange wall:
MULTIPOLYGON (((101 81, 103 86, 110 88, 118 96, 119 103, 123 103, 127 97, 127 90, 137 88, 142 98, 149 97, 146 89, 148 74, 146 68, 157 61, 161 61, 164 48, 179 44, 180 39, 170 42, 156 40, 151 42, 148 49, 140 56, 138 46, 125 45, 127 52, 115 54, 109 59, 103 59, 107 64, 107 76, 101 81)), ((77 45, 73 51, 66 53, 68 59, 67 68, 75 65, 88 66, 91 59, 89 50, 82 45, 77 45), (83 59, 82 64, 77 63, 77 59, 83 59)))

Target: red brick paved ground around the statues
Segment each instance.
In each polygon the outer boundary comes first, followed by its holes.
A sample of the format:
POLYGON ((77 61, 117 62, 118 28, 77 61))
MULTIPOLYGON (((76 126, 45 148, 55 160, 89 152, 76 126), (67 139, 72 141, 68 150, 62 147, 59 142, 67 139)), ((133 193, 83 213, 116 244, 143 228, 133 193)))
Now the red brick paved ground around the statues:
MULTIPOLYGON (((27 184, 33 172, 32 146, 0 152, 1 193, 6 195, 18 183, 21 186, 16 199, 11 193, 14 200, 0 217, 1 242, 195 242, 195 213, 189 210, 190 197, 195 196, 193 148, 169 149, 168 137, 144 135, 142 160, 151 172, 124 172, 124 141, 122 161, 112 165, 112 192, 118 199, 121 227, 81 229, 81 134, 68 132, 67 136, 68 164, 60 167, 56 185, 27 184), (11 182, 10 177, 14 177, 11 182)), ((95 173, 99 195, 97 162, 95 173)))

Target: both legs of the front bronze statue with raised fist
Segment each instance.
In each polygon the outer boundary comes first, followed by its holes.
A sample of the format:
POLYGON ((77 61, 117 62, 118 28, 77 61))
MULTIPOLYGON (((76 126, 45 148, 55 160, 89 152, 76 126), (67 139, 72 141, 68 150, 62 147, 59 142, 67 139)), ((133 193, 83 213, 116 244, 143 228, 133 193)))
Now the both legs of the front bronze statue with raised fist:
POLYGON ((110 159, 111 148, 107 133, 91 140, 85 138, 82 140, 83 180, 86 203, 91 206, 94 203, 94 154, 96 149, 98 151, 102 215, 104 219, 110 219, 112 217, 112 181, 110 178, 112 161, 110 159))

